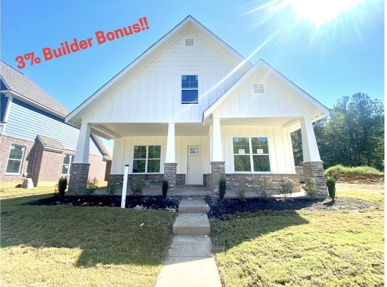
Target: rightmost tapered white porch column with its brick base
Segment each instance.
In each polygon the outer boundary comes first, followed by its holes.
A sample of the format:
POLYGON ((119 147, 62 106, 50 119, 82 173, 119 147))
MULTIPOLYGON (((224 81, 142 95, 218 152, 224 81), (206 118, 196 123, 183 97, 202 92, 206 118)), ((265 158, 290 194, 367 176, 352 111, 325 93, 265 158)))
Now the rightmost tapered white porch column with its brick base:
POLYGON ((319 148, 313 130, 312 120, 305 116, 301 121, 302 151, 304 161, 302 163, 305 179, 314 178, 319 196, 327 196, 327 183, 324 174, 324 162, 320 159, 319 148))

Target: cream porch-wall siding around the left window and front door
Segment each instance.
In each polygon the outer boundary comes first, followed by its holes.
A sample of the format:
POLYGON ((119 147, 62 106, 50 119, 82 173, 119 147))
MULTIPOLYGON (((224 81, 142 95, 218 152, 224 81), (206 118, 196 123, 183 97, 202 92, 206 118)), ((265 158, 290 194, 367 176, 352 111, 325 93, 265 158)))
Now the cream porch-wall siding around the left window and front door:
MULTIPOLYGON (((129 173, 133 169, 135 145, 161 145, 161 173, 164 173, 167 137, 121 137, 114 141, 111 174, 123 174, 125 164, 129 164, 129 173)), ((209 173, 209 153, 207 137, 176 137, 175 157, 177 173, 187 173, 188 146, 198 145, 202 152, 202 173, 209 173)))

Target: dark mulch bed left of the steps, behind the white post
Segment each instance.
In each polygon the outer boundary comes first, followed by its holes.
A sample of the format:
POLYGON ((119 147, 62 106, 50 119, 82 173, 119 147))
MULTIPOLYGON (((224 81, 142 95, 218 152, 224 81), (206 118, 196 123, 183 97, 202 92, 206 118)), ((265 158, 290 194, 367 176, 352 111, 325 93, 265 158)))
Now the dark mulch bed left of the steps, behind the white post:
MULTIPOLYGON (((125 200, 126 208, 137 209, 158 209, 176 212, 181 198, 162 198, 146 196, 127 196, 125 200)), ((72 205, 72 206, 110 206, 121 207, 121 196, 59 196, 43 198, 25 203, 24 205, 72 205)))

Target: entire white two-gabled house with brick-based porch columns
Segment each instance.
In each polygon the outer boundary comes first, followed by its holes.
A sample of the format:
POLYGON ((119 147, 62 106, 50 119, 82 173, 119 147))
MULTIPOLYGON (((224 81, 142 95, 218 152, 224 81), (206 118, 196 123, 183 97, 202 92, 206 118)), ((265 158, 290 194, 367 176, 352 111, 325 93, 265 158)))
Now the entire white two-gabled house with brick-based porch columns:
MULTIPOLYGON (((254 50, 255 47, 251 47, 254 50)), ((69 194, 86 184, 85 144, 90 130, 115 139, 110 177, 138 178, 170 191, 207 186, 218 193, 240 181, 253 190, 267 178, 300 190, 290 133, 301 128, 304 174, 325 190, 312 122, 329 110, 260 59, 252 65, 193 17, 188 16, 95 94, 66 116, 80 128, 69 194), (83 174, 83 176, 80 176, 83 174)))

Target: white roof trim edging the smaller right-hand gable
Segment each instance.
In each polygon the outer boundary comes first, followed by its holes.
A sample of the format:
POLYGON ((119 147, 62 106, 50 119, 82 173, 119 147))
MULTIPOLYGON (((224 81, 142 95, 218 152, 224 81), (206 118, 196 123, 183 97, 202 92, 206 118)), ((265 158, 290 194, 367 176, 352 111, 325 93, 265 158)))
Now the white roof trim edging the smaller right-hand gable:
POLYGON ((203 112, 203 120, 207 118, 230 94, 235 91, 245 80, 252 75, 253 72, 257 70, 260 66, 266 68, 269 72, 274 74, 278 79, 280 79, 282 82, 287 84, 289 87, 291 87, 294 91, 296 91, 298 94, 303 96, 305 99, 307 99, 309 102, 311 102, 314 106, 319 108, 321 111, 323 111, 326 115, 329 114, 329 109, 324 106, 322 103, 317 101, 314 97, 310 96, 307 92, 302 90, 298 85, 293 83, 291 80, 286 78, 283 74, 278 72, 276 69, 274 69, 271 65, 266 63, 263 59, 259 59, 257 63, 255 63, 245 74, 243 74, 242 77, 240 77, 229 89, 223 93, 222 96, 219 97, 214 103, 212 103, 211 106, 209 106, 204 112, 203 112))

